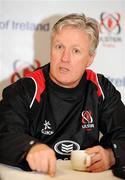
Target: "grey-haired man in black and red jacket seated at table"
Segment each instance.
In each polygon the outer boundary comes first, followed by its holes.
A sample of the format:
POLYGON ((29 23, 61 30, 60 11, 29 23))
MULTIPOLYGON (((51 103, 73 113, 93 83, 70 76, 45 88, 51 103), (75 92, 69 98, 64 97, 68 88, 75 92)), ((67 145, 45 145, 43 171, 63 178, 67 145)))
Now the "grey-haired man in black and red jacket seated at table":
POLYGON ((54 176, 56 159, 86 149, 94 153, 89 172, 124 165, 120 93, 103 75, 87 69, 98 42, 93 18, 70 14, 54 25, 50 64, 3 91, 0 162, 54 176))

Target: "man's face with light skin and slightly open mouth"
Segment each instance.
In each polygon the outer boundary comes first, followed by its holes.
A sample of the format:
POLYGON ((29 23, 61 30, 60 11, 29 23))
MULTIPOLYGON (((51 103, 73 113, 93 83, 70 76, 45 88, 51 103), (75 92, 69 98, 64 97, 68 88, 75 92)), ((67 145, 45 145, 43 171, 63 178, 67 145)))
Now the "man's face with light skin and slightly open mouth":
POLYGON ((89 49, 88 35, 77 28, 67 26, 55 33, 51 42, 50 78, 62 87, 77 86, 94 58, 89 49))

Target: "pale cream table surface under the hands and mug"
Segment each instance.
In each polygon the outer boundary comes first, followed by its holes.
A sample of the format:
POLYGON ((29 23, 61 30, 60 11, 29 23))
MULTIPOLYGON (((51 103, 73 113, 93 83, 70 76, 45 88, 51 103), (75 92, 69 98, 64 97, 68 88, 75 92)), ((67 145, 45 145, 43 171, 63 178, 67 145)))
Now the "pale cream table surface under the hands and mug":
POLYGON ((74 171, 70 161, 57 161, 57 172, 55 177, 37 172, 26 172, 19 168, 0 164, 0 180, 118 180, 113 176, 111 170, 100 173, 88 173, 74 171))

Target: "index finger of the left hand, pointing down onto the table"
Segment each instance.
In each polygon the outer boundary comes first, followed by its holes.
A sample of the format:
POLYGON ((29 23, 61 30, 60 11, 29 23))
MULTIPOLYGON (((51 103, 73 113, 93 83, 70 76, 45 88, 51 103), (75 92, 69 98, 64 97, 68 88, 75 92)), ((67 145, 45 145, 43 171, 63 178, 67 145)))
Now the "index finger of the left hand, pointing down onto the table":
POLYGON ((50 176, 55 176, 56 173, 56 157, 53 156, 49 159, 49 170, 48 170, 48 174, 50 176))

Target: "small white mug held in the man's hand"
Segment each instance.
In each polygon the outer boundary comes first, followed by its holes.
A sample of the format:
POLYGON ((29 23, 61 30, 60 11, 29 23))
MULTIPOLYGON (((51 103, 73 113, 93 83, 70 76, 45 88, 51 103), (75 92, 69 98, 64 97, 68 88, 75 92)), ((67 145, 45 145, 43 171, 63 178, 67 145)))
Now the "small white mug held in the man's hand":
POLYGON ((86 171, 86 168, 91 165, 91 156, 85 150, 73 150, 71 152, 72 169, 78 171, 86 171))

